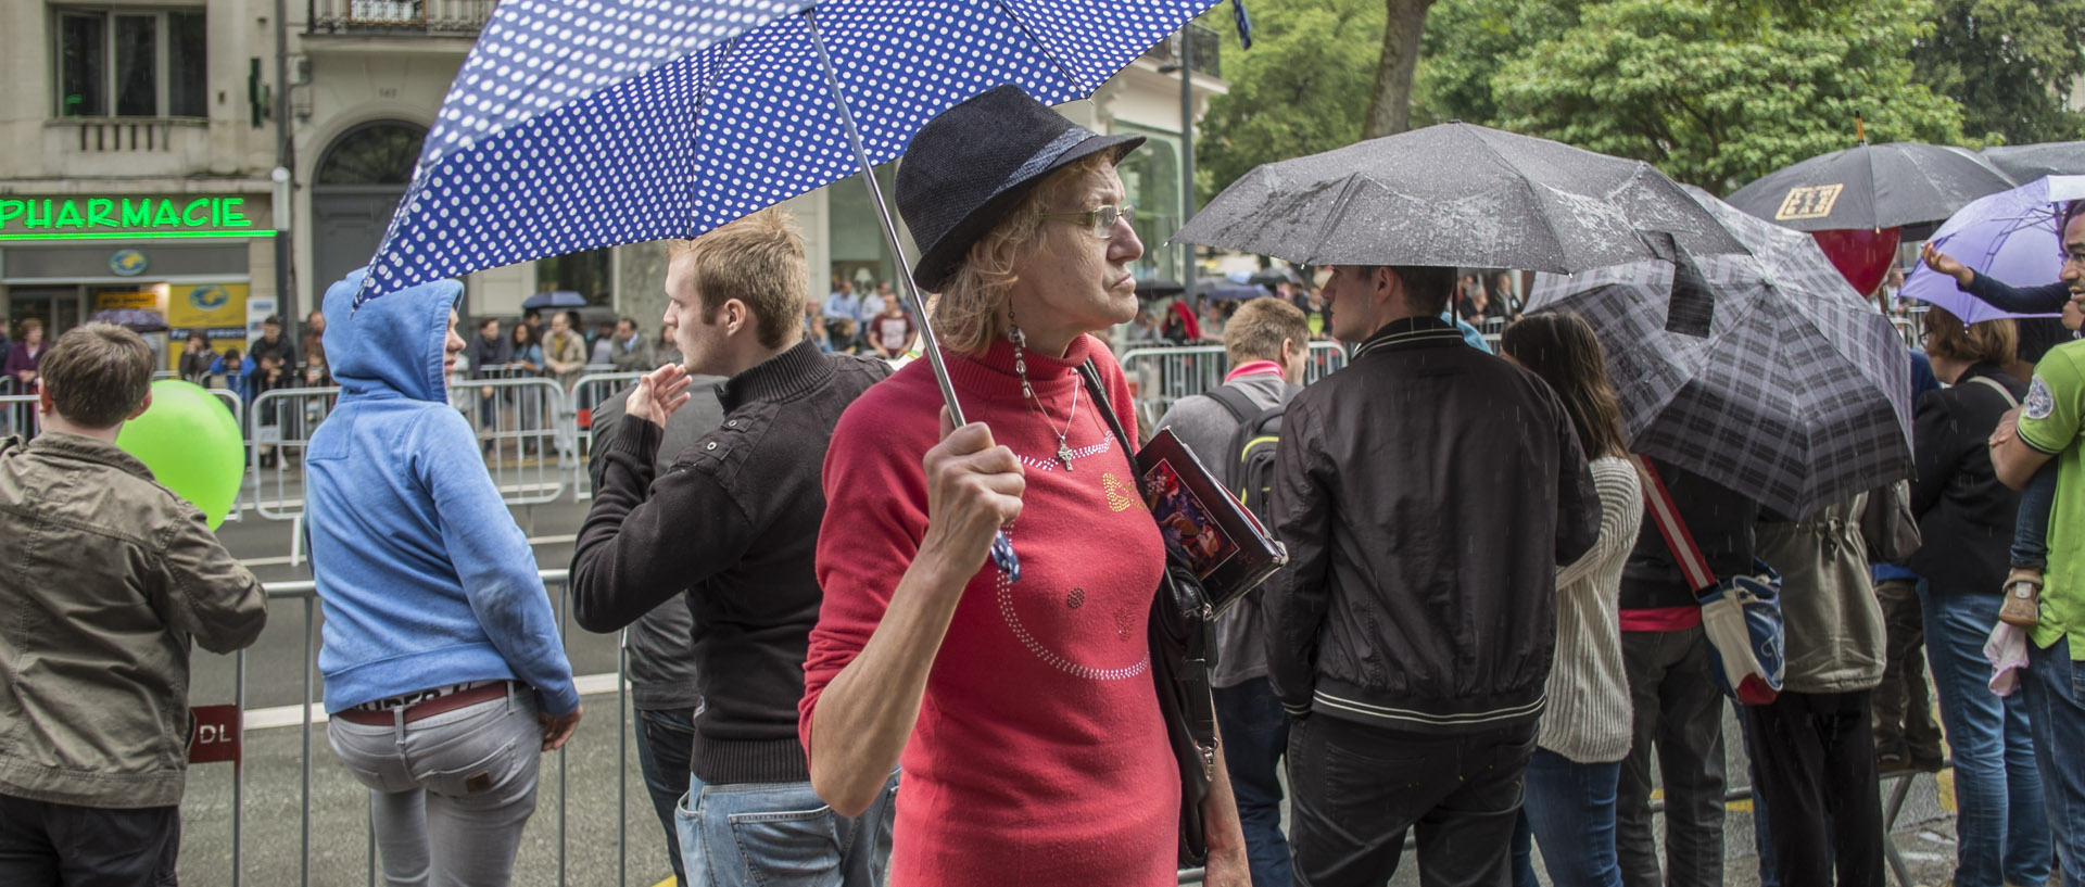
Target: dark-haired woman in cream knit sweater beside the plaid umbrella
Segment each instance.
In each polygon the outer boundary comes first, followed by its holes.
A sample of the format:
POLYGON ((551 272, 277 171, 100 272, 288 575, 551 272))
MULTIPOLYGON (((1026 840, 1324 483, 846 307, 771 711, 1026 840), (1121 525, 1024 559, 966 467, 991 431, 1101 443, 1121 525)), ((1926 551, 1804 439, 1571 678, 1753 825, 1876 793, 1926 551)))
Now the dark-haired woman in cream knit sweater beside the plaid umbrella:
POLYGON ((1593 327, 1578 314, 1532 314, 1499 339, 1499 354, 1555 389, 1578 429, 1599 489, 1599 541, 1557 568, 1557 643, 1547 708, 1528 760, 1514 835, 1514 877, 1535 885, 1530 843, 1557 887, 1620 887, 1614 797, 1630 743, 1618 600, 1622 564, 1643 523, 1643 485, 1628 460, 1622 406, 1593 327))

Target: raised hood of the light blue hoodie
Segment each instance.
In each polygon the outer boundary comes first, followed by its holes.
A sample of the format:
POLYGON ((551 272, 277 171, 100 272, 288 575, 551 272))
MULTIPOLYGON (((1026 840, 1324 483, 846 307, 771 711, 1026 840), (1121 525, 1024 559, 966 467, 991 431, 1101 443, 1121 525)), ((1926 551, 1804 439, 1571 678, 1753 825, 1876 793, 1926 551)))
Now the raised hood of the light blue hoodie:
POLYGON ((325 289, 325 364, 342 394, 446 402, 442 344, 463 283, 421 283, 363 302, 354 310, 354 294, 367 271, 354 269, 325 289))

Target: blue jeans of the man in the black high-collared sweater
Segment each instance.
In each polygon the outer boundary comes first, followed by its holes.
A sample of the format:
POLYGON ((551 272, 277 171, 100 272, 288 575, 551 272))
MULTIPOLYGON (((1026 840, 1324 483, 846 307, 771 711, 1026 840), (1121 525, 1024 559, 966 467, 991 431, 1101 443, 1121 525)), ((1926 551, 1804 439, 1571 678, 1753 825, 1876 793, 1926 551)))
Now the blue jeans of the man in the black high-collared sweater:
POLYGON ((857 818, 811 783, 705 785, 688 777, 673 810, 692 887, 882 887, 890 870, 899 770, 857 818))

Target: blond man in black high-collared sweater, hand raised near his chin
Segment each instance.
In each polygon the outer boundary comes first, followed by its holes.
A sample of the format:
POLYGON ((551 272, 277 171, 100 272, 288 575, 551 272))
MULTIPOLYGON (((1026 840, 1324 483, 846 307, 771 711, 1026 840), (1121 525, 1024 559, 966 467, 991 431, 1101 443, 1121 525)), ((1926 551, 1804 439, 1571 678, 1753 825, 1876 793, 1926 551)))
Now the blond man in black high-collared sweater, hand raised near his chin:
POLYGON ((890 856, 897 777, 863 816, 834 816, 811 791, 796 702, 824 602, 811 566, 826 446, 840 412, 890 364, 803 341, 803 235, 782 210, 676 242, 667 256, 665 325, 686 369, 638 381, 613 441, 594 454, 605 464, 571 560, 573 614, 588 631, 615 631, 686 593, 705 708, 676 827, 686 870, 705 872, 696 883, 753 883, 769 870, 809 879, 809 864, 817 883, 867 887, 890 856), (661 435, 690 400, 688 373, 728 379, 715 389, 723 427, 661 475, 661 435), (749 820, 776 818, 790 827, 746 839, 749 820))

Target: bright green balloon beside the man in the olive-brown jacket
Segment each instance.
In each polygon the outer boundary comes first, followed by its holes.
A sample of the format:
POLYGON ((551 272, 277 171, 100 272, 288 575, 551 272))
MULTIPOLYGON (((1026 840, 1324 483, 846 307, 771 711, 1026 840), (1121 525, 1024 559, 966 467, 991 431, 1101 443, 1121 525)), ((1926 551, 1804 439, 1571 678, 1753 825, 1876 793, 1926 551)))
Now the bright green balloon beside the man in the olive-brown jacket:
POLYGON ((152 406, 123 423, 117 446, 138 456, 158 483, 202 508, 211 529, 240 500, 246 441, 240 423, 215 394, 192 381, 152 383, 152 406))

